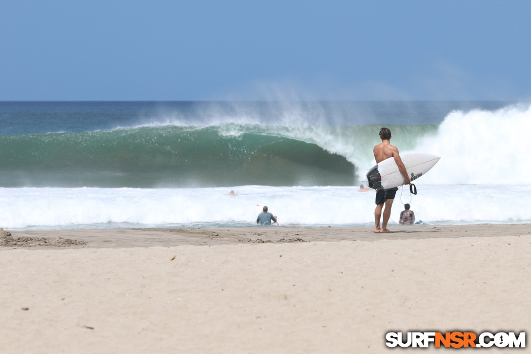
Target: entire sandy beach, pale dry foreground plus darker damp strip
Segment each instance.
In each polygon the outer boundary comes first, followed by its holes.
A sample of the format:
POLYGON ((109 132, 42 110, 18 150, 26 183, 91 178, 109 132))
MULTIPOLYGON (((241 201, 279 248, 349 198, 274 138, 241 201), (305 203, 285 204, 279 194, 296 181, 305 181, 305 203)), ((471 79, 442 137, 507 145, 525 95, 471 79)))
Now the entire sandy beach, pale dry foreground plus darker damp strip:
POLYGON ((11 231, 86 244, 0 247, 0 352, 424 352, 384 335, 531 328, 530 225, 393 230, 11 231))

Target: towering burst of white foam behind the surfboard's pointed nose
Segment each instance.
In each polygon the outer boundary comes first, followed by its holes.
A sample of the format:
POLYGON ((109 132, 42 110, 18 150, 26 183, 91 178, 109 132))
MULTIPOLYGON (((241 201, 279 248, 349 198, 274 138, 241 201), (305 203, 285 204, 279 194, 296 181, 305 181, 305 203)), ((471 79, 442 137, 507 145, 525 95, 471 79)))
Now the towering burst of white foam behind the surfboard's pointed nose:
POLYGON ((441 156, 430 184, 530 184, 531 107, 452 112, 413 149, 441 156))

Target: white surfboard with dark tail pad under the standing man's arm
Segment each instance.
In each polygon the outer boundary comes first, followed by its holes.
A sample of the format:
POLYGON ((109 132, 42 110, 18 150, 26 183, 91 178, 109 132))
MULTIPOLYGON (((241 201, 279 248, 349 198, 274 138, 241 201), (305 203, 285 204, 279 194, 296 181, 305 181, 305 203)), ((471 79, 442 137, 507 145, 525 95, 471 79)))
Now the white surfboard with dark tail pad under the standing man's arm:
MULTIPOLYGON (((400 156, 406 166, 409 179, 413 182, 430 168, 435 166, 440 157, 432 154, 405 154, 400 156)), ((367 172, 365 182, 374 189, 389 189, 399 187, 406 181, 404 176, 398 171, 398 166, 394 157, 383 160, 367 172)))

